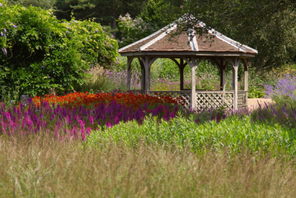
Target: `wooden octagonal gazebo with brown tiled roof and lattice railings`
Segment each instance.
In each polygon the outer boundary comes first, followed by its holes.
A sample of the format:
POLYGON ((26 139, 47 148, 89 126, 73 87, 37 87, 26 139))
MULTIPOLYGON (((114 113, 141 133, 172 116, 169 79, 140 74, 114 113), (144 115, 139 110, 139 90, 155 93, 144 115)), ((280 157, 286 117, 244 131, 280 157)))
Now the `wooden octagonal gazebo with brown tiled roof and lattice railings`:
MULTIPOLYGON (((205 26, 203 23, 199 25, 205 26)), ((246 108, 248 105, 248 58, 255 57, 258 51, 231 40, 213 29, 203 37, 197 35, 188 37, 184 32, 176 38, 171 38, 176 28, 175 24, 171 24, 118 50, 121 56, 127 56, 127 90, 131 90, 131 62, 133 59, 138 59, 142 70, 141 93, 143 94, 153 95, 156 92, 182 96, 188 107, 199 110, 221 106, 233 110, 246 108), (209 41, 207 36, 214 38, 209 41), (150 91, 150 67, 158 58, 169 58, 177 64, 180 70, 180 91, 150 91), (178 59, 180 62, 177 61, 178 59), (220 68, 220 90, 196 90, 195 71, 203 60, 212 60, 220 68), (243 91, 238 90, 239 61, 242 61, 244 66, 243 91), (232 68, 231 91, 225 91, 225 69, 228 64, 232 68), (191 90, 184 89, 186 65, 191 68, 191 90)))

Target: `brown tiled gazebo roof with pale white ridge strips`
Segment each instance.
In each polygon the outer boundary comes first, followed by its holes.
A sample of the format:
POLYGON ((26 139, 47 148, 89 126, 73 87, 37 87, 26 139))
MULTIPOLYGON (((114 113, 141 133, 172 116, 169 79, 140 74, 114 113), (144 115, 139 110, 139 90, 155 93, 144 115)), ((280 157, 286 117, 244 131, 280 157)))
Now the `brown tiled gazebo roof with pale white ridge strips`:
MULTIPOLYGON (((205 24, 200 22, 200 26, 205 24)), ((152 52, 165 52, 166 55, 176 54, 209 54, 209 55, 239 55, 239 56, 255 56, 258 54, 256 49, 243 45, 235 40, 229 39, 214 29, 208 31, 208 35, 199 37, 194 31, 193 38, 190 40, 187 33, 184 32, 176 38, 171 38, 171 34, 176 31, 177 25, 171 24, 152 35, 138 40, 118 50, 122 55, 141 55, 152 52), (207 36, 214 36, 214 42, 207 39, 207 36)), ((154 54, 153 53, 153 54, 154 54)))

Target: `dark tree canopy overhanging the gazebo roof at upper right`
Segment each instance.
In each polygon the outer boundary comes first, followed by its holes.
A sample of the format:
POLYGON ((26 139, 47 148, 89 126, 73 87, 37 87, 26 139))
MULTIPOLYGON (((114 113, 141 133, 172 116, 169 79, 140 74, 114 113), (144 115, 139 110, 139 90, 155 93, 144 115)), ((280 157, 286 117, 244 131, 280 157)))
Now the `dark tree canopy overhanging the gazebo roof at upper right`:
POLYGON ((259 54, 251 61, 259 71, 293 61, 295 8, 295 0, 149 0, 141 16, 158 26, 183 16, 184 20, 178 21, 177 35, 195 27, 201 36, 214 28, 256 48, 259 54), (198 26, 200 21, 206 29, 198 26))

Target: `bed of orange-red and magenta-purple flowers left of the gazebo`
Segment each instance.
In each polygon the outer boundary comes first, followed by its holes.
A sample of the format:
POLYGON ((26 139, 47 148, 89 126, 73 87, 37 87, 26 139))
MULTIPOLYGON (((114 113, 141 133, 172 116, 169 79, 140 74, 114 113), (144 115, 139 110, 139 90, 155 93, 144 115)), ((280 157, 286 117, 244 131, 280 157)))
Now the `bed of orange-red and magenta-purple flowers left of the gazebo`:
POLYGON ((149 114, 169 120, 176 117, 181 99, 132 93, 71 93, 30 98, 18 106, 0 106, 0 134, 53 133, 60 139, 82 139, 92 129, 112 127, 120 121, 142 123, 149 114))

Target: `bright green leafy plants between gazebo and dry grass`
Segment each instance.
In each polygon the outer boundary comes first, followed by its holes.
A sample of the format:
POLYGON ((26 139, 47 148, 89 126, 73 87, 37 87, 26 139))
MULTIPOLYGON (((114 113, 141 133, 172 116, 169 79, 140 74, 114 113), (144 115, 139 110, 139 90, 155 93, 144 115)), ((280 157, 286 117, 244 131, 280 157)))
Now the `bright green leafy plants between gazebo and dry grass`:
POLYGON ((90 146, 112 141, 137 147, 143 139, 147 145, 175 145, 179 149, 187 147, 197 153, 204 149, 221 151, 227 148, 233 154, 247 149, 254 153, 270 152, 276 156, 282 149, 287 153, 295 150, 296 130, 290 131, 278 124, 254 123, 250 117, 232 117, 219 123, 211 121, 200 125, 193 119, 182 117, 170 122, 148 118, 142 125, 130 121, 99 129, 91 133, 87 142, 90 146))

